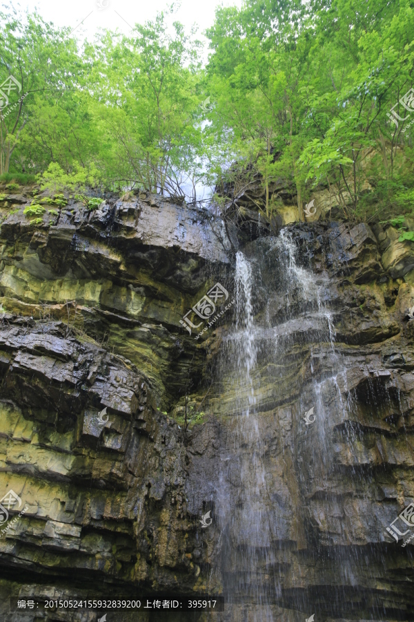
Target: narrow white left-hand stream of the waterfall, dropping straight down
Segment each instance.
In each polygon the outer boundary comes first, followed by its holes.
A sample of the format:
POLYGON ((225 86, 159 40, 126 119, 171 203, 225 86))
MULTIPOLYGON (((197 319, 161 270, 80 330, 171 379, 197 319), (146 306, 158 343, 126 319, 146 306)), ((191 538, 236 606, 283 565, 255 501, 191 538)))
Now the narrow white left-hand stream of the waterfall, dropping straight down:
MULTIPOLYGON (((235 332, 228 340, 229 359, 236 361, 236 399, 233 406, 233 443, 237 464, 224 460, 220 473, 217 511, 224 526, 221 569, 228 602, 240 599, 255 605, 266 605, 262 594, 262 574, 270 558, 270 517, 263 496, 266 496, 264 444, 261 442, 260 416, 256 411, 257 334, 253 313, 254 272, 242 252, 236 256, 235 332), (233 506, 228 504, 228 482, 237 478, 240 486, 233 506), (237 572, 233 572, 233 569, 237 572)), ((260 607, 257 620, 273 619, 267 607, 260 607)))

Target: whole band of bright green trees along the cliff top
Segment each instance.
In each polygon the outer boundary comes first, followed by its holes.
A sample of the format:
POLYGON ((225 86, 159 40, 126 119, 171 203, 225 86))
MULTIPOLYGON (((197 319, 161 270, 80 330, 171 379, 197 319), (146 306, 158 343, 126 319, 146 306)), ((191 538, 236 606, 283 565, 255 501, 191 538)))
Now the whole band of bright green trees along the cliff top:
POLYGON ((0 82, 21 89, 0 101, 0 174, 187 200, 199 182, 235 198, 259 179, 267 214, 282 179, 300 213, 316 187, 349 217, 412 211, 413 4, 219 8, 206 66, 194 33, 168 34, 164 13, 80 50, 36 13, 2 13, 0 82))

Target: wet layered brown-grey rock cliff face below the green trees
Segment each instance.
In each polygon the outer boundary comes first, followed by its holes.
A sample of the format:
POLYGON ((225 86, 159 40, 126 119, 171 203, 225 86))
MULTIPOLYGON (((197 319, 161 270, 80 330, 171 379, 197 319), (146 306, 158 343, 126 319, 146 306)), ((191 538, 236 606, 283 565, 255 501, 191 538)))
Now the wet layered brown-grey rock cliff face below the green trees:
POLYGON ((413 619, 386 531, 414 498, 411 243, 320 221, 238 242, 149 195, 39 225, 28 202, 1 207, 2 619, 157 591, 223 593, 223 620, 413 619), (196 340, 180 320, 217 282, 237 303, 196 340))

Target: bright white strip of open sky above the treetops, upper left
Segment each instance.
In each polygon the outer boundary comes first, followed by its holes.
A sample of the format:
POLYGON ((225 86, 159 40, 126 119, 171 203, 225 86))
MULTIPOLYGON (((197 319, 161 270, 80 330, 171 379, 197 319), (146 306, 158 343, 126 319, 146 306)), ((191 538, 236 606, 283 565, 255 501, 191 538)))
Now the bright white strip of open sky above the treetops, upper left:
MULTIPOLYGON (((1 2, 1 0, 0 0, 1 2)), ((43 17, 45 21, 52 21, 55 26, 71 26, 76 28, 73 35, 78 39, 87 37, 92 40, 99 28, 118 30, 125 35, 130 33, 135 23, 144 23, 153 19, 157 11, 165 10, 168 0, 12 0, 11 4, 17 10, 26 12, 34 11, 43 17), (79 26, 78 24, 82 21, 79 26)), ((191 26, 197 23, 199 26, 198 37, 201 33, 213 25, 215 9, 218 6, 242 6, 242 0, 181 0, 175 3, 179 9, 168 21, 181 21, 186 32, 190 32, 191 26)), ((2 8, 10 6, 9 2, 1 2, 2 8)))

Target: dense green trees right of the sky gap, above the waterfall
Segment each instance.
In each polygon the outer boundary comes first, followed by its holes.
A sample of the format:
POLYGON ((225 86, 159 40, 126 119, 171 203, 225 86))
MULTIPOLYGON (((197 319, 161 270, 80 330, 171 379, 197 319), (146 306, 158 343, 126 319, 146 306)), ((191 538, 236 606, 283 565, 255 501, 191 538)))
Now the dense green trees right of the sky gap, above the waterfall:
POLYGON ((247 0, 217 10, 205 88, 217 102, 208 133, 223 186, 237 196, 260 173, 266 211, 280 177, 299 208, 318 186, 353 218, 411 211, 411 142, 386 113, 412 85, 414 12, 386 0, 311 6, 247 0), (235 182, 228 153, 249 177, 235 182))

